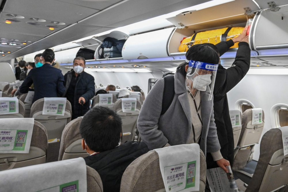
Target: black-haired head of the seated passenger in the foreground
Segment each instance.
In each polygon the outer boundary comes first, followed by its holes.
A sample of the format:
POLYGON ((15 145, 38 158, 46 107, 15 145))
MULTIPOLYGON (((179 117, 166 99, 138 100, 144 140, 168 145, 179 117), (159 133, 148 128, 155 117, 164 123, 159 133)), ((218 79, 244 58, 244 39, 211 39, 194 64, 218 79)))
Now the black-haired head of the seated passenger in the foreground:
POLYGON ((87 153, 111 150, 119 144, 122 119, 111 109, 96 106, 84 115, 79 131, 87 153))

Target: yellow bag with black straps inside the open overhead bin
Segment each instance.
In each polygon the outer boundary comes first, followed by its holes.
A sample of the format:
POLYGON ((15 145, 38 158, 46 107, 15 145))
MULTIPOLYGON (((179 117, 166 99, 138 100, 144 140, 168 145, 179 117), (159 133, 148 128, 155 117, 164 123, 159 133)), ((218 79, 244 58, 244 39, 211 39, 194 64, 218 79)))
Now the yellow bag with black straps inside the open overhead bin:
MULTIPOLYGON (((244 27, 226 27, 223 29, 195 33, 191 37, 187 37, 181 41, 179 51, 186 52, 191 46, 196 44, 212 43, 216 45, 221 41, 234 39, 242 33, 243 29, 244 27)), ((238 48, 238 43, 235 43, 234 46, 230 48, 238 48)))

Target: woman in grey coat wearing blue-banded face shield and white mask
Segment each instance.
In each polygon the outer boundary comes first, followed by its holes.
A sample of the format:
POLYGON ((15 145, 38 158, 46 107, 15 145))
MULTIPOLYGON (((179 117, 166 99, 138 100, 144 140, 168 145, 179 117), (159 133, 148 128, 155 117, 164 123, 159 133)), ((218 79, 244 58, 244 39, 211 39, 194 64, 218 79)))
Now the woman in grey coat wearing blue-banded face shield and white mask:
MULTIPOLYGON (((174 76, 174 97, 163 112, 165 78, 159 79, 143 103, 137 128, 150 150, 170 145, 198 143, 206 156, 227 172, 213 114, 213 87, 219 54, 207 45, 194 45, 174 76)), ((171 85, 173 86, 173 84, 171 85)))

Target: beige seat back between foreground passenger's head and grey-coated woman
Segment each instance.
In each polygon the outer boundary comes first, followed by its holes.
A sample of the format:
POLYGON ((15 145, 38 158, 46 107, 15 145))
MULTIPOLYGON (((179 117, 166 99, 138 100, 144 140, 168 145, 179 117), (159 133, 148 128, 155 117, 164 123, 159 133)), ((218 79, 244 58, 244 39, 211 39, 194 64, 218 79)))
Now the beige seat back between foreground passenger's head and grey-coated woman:
POLYGON ((125 143, 126 141, 134 141, 137 120, 141 107, 142 105, 140 101, 137 100, 136 108, 134 111, 123 112, 122 99, 119 99, 118 101, 115 102, 113 106, 113 111, 119 114, 122 119, 122 131, 123 131, 122 143, 125 143))

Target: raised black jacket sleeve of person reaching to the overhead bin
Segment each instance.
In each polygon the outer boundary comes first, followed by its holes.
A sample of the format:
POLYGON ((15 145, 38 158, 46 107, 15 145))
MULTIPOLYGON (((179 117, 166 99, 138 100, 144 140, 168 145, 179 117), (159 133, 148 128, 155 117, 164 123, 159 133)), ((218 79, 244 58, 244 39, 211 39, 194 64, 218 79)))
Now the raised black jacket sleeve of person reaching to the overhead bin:
POLYGON ((240 42, 232 67, 225 69, 219 65, 213 91, 216 99, 217 97, 223 97, 247 74, 250 68, 250 52, 249 44, 240 42))

